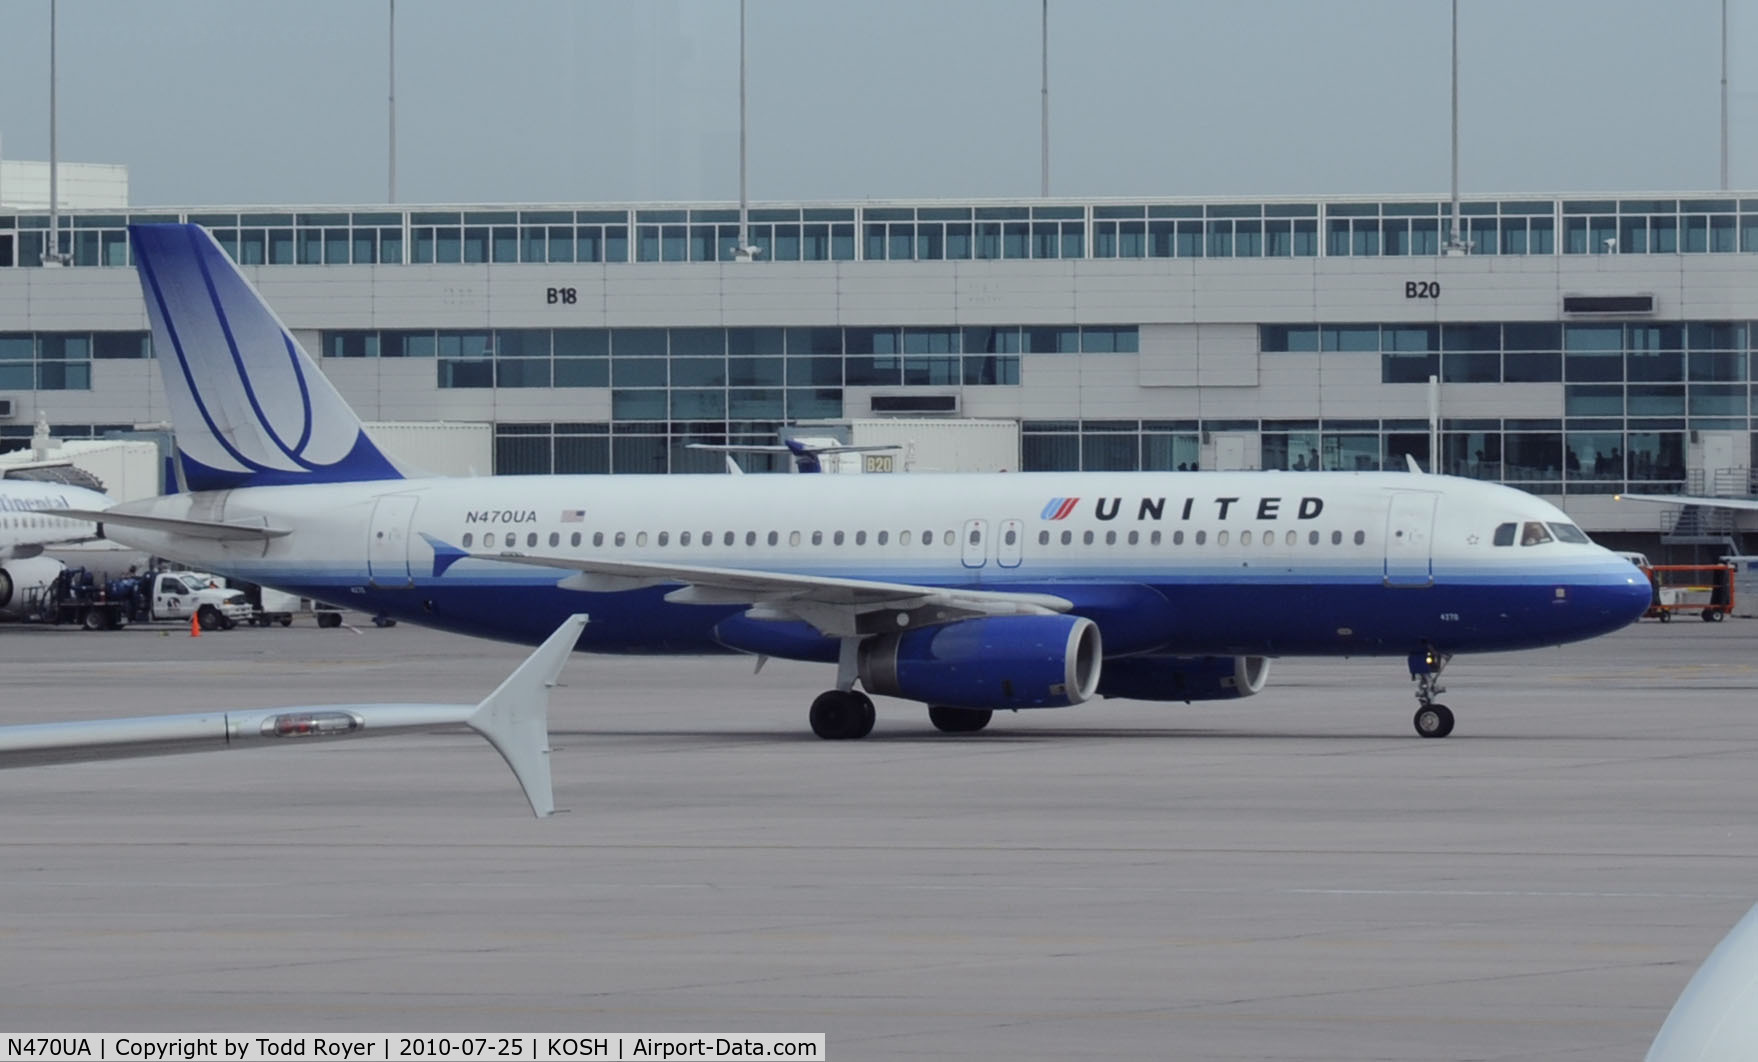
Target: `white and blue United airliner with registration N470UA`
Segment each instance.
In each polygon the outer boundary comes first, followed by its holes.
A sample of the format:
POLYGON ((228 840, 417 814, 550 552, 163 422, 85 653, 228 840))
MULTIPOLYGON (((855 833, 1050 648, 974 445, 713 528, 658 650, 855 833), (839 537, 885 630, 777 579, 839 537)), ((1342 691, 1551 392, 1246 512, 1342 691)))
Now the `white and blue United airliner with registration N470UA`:
POLYGON ((1417 733, 1457 652, 1614 631, 1647 580, 1529 494, 1408 473, 413 478, 193 225, 132 227, 190 489, 102 513, 135 549, 418 624, 835 665, 944 731, 1093 696, 1262 689, 1273 656, 1406 658, 1417 733))

